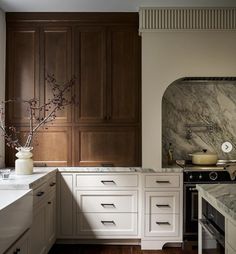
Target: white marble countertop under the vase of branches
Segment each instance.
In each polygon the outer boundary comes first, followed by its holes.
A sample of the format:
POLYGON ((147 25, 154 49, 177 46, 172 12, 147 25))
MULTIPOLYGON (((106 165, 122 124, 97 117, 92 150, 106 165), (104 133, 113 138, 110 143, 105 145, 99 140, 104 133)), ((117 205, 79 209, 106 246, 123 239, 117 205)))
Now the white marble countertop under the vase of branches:
POLYGON ((39 185, 42 181, 56 174, 57 168, 38 167, 34 168, 33 172, 32 175, 16 175, 14 171, 12 171, 8 180, 0 178, 0 190, 32 189, 34 186, 39 185))

